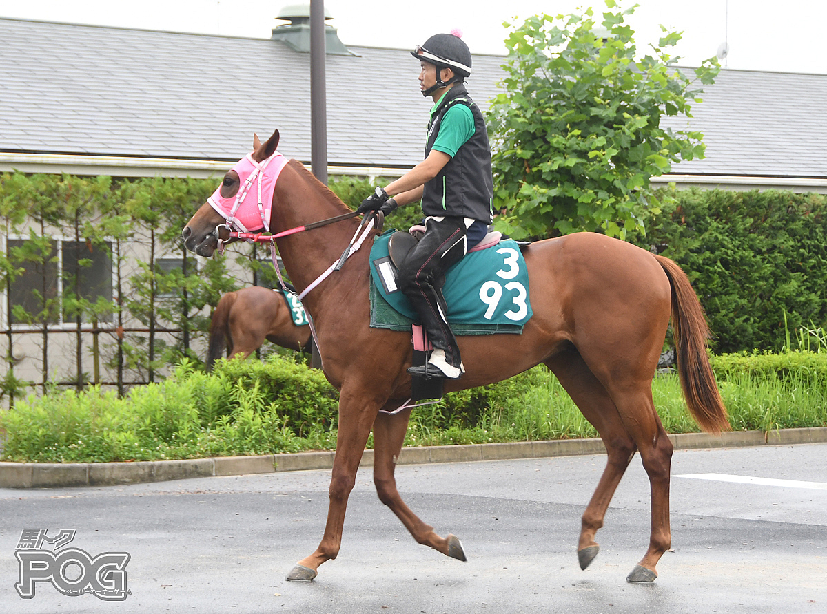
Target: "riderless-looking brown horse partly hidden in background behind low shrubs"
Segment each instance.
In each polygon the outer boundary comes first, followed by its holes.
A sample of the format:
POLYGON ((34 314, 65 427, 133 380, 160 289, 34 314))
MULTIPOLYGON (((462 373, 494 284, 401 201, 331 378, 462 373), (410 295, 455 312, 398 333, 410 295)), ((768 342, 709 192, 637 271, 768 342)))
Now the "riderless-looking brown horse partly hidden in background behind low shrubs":
POLYGON ((246 358, 265 340, 289 350, 304 350, 310 326, 293 323, 284 295, 261 286, 241 288, 221 297, 209 326, 207 370, 213 370, 226 347, 229 358, 246 358))

